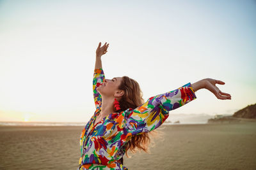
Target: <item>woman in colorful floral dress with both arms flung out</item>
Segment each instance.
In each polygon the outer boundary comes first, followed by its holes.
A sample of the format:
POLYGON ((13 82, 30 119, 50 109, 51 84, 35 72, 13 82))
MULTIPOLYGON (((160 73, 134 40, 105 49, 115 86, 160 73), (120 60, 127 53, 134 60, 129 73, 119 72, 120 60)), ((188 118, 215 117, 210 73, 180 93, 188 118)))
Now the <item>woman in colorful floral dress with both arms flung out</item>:
POLYGON ((144 103, 138 83, 127 77, 106 79, 101 56, 108 52, 107 43, 96 50, 93 74, 95 113, 84 127, 81 138, 81 157, 78 169, 127 169, 123 165, 128 149, 147 149, 149 132, 157 129, 168 118, 169 111, 196 99, 199 89, 210 90, 218 99, 231 99, 221 92, 220 80, 205 78, 187 83, 176 90, 150 97, 144 103))

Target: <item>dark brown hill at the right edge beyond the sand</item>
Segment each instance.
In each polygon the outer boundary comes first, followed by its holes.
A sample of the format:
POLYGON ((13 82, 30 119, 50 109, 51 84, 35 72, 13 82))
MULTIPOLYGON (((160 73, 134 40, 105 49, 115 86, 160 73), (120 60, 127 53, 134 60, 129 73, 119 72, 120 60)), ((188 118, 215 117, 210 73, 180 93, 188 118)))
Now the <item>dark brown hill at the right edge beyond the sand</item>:
POLYGON ((216 118, 208 119, 208 123, 237 123, 237 122, 256 122, 256 104, 246 106, 239 111, 236 111, 234 115, 224 117, 218 115, 216 118))

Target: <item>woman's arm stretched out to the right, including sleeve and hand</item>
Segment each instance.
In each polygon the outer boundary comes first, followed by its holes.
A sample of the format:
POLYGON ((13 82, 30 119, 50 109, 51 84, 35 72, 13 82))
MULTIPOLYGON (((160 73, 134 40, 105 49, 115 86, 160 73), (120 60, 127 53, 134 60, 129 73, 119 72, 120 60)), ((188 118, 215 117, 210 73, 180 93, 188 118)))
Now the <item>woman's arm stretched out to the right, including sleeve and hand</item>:
POLYGON ((129 109, 124 115, 125 138, 157 129, 168 118, 169 111, 195 100, 196 90, 207 89, 218 99, 231 99, 230 94, 223 93, 216 87, 216 83, 225 84, 220 80, 205 78, 193 84, 187 83, 176 90, 150 97, 146 103, 141 104, 138 108, 129 109))

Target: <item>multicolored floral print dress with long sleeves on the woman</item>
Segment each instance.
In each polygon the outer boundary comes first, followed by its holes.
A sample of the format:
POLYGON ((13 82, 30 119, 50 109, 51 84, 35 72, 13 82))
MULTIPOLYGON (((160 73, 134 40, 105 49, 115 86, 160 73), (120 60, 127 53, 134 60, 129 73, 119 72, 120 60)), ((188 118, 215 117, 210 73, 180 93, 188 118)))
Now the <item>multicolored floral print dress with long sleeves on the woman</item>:
POLYGON ((93 97, 96 110, 85 125, 80 138, 81 157, 78 169, 127 169, 120 159, 125 154, 125 143, 132 135, 157 129, 168 118, 169 111, 196 99, 191 83, 179 89, 150 97, 147 102, 132 110, 110 113, 94 124, 100 113, 101 96, 97 87, 104 81, 103 69, 93 74, 93 97))

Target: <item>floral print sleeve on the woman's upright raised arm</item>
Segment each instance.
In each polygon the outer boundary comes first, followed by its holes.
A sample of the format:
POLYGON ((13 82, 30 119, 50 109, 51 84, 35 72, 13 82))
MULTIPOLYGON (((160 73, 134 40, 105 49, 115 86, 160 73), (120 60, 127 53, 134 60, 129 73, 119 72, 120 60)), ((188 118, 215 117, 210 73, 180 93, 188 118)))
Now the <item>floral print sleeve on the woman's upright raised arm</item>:
POLYGON ((100 108, 102 98, 99 92, 97 91, 97 88, 103 83, 105 80, 105 75, 103 69, 94 69, 93 74, 93 98, 95 103, 96 110, 100 108))

